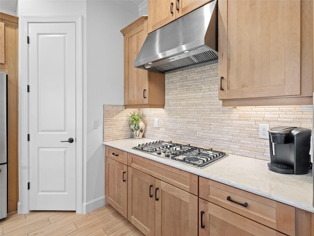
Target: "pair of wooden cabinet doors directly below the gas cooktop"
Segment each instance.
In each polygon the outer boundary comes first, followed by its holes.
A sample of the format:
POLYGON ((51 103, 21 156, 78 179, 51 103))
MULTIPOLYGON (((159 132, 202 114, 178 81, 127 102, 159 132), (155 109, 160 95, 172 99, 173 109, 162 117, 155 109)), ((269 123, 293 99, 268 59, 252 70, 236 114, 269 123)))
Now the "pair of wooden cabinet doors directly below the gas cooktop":
POLYGON ((128 220, 146 236, 197 236, 197 196, 131 167, 128 181, 128 220))

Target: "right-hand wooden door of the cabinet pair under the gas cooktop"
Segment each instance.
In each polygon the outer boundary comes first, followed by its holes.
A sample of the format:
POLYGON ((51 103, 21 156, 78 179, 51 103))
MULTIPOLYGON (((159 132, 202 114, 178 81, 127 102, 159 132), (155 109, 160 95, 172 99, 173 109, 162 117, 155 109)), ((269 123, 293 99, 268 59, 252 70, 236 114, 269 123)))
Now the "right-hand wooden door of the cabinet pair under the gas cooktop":
POLYGON ((197 236, 198 197, 156 179, 155 235, 197 236))

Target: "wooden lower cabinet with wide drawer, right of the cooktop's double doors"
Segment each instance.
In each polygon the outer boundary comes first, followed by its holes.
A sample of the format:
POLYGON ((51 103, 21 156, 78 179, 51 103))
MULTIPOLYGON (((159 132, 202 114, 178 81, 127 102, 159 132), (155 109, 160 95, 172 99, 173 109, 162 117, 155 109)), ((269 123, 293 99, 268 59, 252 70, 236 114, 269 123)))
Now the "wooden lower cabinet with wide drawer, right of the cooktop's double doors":
POLYGON ((204 177, 199 184, 201 236, 296 236, 294 207, 204 177))

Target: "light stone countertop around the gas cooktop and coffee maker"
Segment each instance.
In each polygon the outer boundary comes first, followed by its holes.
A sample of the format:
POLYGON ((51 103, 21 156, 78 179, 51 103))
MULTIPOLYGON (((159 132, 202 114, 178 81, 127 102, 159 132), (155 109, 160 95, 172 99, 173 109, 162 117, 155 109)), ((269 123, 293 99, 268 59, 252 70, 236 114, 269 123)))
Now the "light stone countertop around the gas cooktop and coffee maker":
POLYGON ((307 175, 279 174, 268 170, 268 161, 234 154, 228 154, 229 156, 204 169, 199 169, 132 149, 139 144, 153 141, 156 140, 146 138, 122 139, 104 142, 104 145, 314 213, 312 170, 307 175))

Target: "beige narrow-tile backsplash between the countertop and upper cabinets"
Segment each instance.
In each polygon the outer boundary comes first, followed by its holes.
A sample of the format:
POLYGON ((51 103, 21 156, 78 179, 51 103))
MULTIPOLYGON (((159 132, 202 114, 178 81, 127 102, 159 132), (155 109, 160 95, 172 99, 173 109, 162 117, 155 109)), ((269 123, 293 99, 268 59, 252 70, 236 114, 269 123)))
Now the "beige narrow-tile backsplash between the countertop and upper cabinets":
MULTIPOLYGON (((259 124, 312 129, 312 105, 222 107, 217 77, 217 63, 166 74, 164 109, 140 109, 146 114, 143 137, 269 160, 268 140, 259 139, 259 124)), ((104 141, 132 137, 129 115, 134 110, 104 106, 104 141)))

